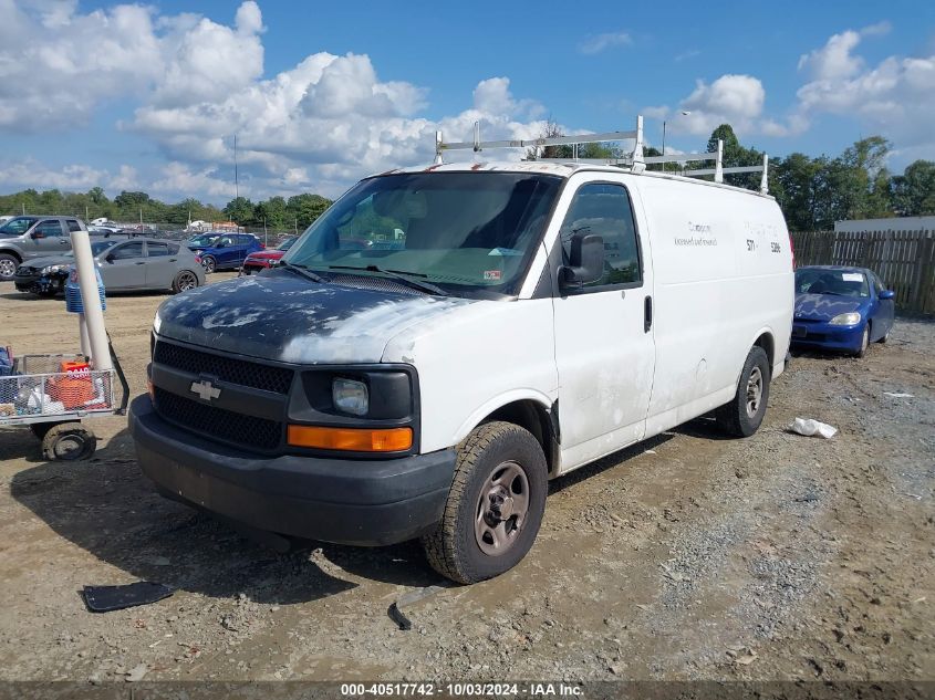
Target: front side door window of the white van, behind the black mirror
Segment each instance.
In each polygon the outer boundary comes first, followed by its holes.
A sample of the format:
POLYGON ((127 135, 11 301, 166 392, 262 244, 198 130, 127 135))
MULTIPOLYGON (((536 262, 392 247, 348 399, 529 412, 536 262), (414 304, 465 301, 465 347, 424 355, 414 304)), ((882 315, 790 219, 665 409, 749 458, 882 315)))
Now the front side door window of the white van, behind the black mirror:
POLYGON ((640 242, 625 187, 591 182, 578 190, 559 231, 565 264, 571 252, 571 239, 575 233, 591 233, 604 239, 604 273, 594 282, 585 284, 586 290, 617 285, 642 286, 640 242))

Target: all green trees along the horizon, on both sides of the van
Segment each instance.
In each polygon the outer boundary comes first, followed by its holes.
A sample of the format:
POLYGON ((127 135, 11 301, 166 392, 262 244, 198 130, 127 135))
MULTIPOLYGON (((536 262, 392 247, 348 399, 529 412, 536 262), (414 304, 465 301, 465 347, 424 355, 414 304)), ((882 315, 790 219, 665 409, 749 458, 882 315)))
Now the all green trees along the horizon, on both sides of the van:
MULTIPOLYGON (((542 136, 561 136, 559 127, 549 123, 542 136)), ((762 152, 744 146, 729 124, 721 124, 707 143, 707 150, 717 150, 724 142, 724 166, 762 164, 762 152)), ((855 142, 835 157, 815 158, 793 153, 785 158, 770 158, 769 191, 776 197, 791 231, 830 230, 835 221, 935 215, 935 163, 916 160, 902 175, 886 168, 891 145, 882 136, 855 142)), ((647 146, 647 156, 661 155, 647 146)), ((571 146, 548 146, 530 158, 571 158, 571 146)), ((580 158, 620 157, 621 150, 602 144, 582 144, 580 158)), ((656 164, 648 169, 677 168, 675 164, 656 164)), ((686 169, 709 168, 710 163, 689 163, 686 169)), ((710 179, 710 178, 709 178, 710 179)), ((728 181, 749 188, 759 187, 759 174, 729 175, 728 181)), ((38 192, 27 189, 0 196, 0 213, 71 213, 93 220, 106 217, 114 221, 159 222, 184 227, 189 220, 231 220, 239 226, 270 230, 301 231, 331 206, 320 195, 303 194, 270 197, 252 202, 246 197, 230 200, 224 208, 188 198, 170 205, 153 199, 146 192, 123 191, 113 200, 94 187, 85 194, 51 189, 38 192)))

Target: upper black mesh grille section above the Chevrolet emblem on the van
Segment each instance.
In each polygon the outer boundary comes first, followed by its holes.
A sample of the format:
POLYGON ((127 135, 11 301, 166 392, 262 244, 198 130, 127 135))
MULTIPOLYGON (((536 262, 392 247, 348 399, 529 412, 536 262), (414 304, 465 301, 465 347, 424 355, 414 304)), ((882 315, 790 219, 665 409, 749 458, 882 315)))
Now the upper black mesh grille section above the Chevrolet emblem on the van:
POLYGON ((208 374, 221 382, 276 394, 288 394, 289 385, 292 384, 292 370, 284 367, 212 355, 162 341, 156 343, 153 362, 191 374, 208 374))

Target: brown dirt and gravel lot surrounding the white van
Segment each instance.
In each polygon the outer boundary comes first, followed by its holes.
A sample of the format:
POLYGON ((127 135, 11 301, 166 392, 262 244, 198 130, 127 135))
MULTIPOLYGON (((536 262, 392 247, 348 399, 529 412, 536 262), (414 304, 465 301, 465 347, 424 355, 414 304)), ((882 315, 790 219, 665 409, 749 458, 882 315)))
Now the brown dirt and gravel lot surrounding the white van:
MULTIPOLYGON (((107 300, 134 395, 163 299, 107 300)), ((76 322, 2 284, 0 342, 73 351, 76 322)), ((553 482, 530 556, 470 587, 412 543, 277 555, 156 495, 123 419, 93 426, 72 464, 0 432, 0 679, 935 678, 933 323, 797 358, 750 439, 696 420, 553 482), (137 579, 176 593, 103 615, 79 594, 137 579)))

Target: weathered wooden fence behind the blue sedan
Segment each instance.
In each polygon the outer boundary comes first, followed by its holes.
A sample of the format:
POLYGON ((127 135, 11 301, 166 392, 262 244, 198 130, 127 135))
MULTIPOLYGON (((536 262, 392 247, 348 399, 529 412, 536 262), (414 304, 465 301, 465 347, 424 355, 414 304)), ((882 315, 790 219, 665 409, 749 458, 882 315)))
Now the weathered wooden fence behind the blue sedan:
POLYGON ((896 293, 896 306, 935 313, 935 231, 798 231, 796 265, 873 270, 896 293))

